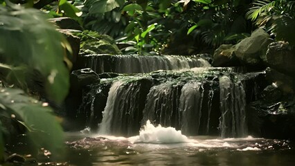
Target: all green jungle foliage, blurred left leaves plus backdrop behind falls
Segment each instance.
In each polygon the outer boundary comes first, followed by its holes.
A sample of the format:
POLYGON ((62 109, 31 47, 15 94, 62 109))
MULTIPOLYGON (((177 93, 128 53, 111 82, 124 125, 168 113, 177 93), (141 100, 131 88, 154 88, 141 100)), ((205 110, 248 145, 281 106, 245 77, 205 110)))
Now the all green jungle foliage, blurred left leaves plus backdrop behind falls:
POLYGON ((19 133, 35 149, 62 149, 62 127, 43 99, 66 97, 71 48, 48 18, 109 35, 123 54, 191 55, 236 44, 258 27, 294 46, 294 8, 287 0, 0 0, 0 163, 19 133))

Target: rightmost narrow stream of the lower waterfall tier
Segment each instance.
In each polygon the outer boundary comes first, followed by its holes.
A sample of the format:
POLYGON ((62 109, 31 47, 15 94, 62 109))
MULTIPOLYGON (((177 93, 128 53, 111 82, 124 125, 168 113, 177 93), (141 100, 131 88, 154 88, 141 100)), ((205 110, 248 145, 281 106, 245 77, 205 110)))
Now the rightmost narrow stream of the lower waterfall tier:
POLYGON ((247 134, 246 94, 240 81, 220 77, 220 130, 222 138, 242 137, 247 134))

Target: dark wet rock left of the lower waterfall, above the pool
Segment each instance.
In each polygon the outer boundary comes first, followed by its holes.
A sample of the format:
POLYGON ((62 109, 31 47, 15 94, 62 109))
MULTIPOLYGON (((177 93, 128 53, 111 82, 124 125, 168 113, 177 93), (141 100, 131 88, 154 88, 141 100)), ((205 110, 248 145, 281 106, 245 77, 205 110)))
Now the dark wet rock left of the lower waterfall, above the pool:
MULTIPOLYGON (((99 83, 99 76, 90 68, 84 68, 77 71, 73 71, 70 75, 70 91, 65 100, 66 116, 71 120, 75 120, 77 126, 84 127, 87 120, 87 113, 80 111, 79 107, 82 103, 82 96, 84 93, 88 93, 91 89, 89 86, 93 83, 99 83), (79 125, 80 124, 80 125, 79 125)), ((75 126, 75 127, 77 127, 75 126)), ((66 127, 65 127, 66 128, 66 127)), ((69 129, 71 124, 69 124, 69 129)), ((76 128, 77 129, 77 128, 76 128)), ((79 129, 79 128, 78 128, 79 129)))

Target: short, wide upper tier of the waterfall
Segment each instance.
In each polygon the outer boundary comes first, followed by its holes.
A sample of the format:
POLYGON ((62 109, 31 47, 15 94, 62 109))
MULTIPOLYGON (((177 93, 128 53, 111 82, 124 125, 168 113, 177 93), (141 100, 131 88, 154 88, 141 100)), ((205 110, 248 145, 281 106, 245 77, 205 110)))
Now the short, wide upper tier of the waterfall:
POLYGON ((175 71, 211 66, 198 56, 86 55, 83 58, 82 67, 91 68, 96 73, 150 73, 158 70, 175 71))

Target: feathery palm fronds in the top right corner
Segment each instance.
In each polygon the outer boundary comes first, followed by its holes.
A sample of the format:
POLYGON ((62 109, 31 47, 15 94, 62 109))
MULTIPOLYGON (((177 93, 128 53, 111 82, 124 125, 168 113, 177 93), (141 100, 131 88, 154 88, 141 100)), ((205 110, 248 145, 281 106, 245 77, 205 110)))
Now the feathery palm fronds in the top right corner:
POLYGON ((278 40, 285 40, 295 46, 295 1, 258 0, 247 12, 247 18, 256 26, 266 28, 278 40))

